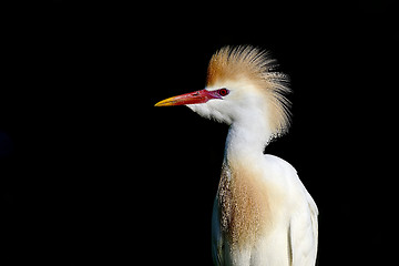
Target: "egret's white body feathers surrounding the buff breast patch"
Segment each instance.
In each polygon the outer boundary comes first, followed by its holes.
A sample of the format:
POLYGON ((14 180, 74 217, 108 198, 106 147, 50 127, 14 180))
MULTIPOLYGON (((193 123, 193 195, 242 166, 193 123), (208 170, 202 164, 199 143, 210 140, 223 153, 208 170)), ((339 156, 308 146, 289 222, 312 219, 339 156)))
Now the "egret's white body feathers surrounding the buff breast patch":
POLYGON ((221 228, 221 209, 216 195, 212 218, 212 253, 215 265, 314 266, 318 214, 314 200, 294 167, 284 160, 265 155, 255 163, 262 165, 264 173, 259 177, 259 185, 267 184, 268 190, 278 197, 272 202, 272 226, 259 232, 256 242, 246 248, 232 248, 228 237, 221 228))

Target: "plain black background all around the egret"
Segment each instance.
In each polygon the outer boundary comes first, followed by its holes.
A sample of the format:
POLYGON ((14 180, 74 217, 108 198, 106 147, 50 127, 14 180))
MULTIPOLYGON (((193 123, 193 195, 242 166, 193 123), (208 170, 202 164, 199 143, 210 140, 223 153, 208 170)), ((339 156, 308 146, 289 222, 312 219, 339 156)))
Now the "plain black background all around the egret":
POLYGON ((270 50, 290 76, 293 125, 265 152, 318 204, 318 265, 395 256, 392 3, 16 1, 3 12, 1 265, 212 265, 227 126, 153 105, 203 89, 225 44, 270 50))

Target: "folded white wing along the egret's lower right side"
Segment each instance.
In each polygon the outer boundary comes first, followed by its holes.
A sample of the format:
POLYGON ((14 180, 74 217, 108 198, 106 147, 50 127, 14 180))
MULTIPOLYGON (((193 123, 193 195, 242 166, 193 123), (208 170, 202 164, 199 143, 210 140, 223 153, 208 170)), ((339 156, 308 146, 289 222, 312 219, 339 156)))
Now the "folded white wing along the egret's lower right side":
POLYGON ((293 215, 289 223, 291 266, 314 266, 316 264, 318 209, 315 201, 306 190, 305 197, 307 204, 293 215))

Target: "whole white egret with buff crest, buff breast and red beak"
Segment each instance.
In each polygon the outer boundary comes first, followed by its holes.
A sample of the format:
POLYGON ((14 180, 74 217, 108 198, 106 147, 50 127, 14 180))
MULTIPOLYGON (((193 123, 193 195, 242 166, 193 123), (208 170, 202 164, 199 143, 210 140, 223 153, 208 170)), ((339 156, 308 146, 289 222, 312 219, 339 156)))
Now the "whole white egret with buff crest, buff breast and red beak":
POLYGON ((268 50, 226 45, 211 58, 205 89, 160 101, 228 125, 212 213, 214 265, 313 266, 318 208, 288 162, 265 154, 291 124, 288 75, 268 50))

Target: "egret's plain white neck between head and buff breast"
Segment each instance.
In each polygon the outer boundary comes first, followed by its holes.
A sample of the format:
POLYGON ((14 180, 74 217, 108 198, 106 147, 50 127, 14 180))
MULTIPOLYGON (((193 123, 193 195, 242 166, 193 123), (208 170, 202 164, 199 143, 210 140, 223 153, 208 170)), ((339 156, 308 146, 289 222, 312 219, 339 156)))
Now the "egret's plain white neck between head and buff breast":
POLYGON ((267 121, 252 117, 235 121, 227 134, 225 157, 243 160, 244 157, 262 156, 272 130, 267 121))

